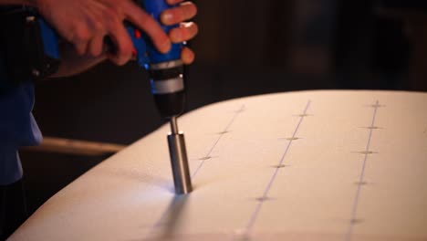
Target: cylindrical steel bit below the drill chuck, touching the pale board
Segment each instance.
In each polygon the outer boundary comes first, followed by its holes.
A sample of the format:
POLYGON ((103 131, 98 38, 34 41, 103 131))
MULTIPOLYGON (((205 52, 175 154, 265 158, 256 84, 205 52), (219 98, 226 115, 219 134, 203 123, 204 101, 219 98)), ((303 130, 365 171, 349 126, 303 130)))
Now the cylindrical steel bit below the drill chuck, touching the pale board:
POLYGON ((187 150, 184 135, 178 129, 177 118, 171 118, 172 133, 168 135, 169 153, 171 154, 173 183, 176 194, 188 194, 193 191, 192 179, 188 168, 187 150))

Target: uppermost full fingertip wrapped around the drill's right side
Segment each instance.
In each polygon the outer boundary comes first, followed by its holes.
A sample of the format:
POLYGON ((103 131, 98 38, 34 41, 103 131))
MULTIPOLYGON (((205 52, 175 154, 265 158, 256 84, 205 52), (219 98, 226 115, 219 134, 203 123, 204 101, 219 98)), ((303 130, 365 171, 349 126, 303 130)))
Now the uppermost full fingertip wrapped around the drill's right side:
POLYGON ((161 13, 161 23, 171 26, 193 18, 197 14, 197 7, 192 2, 184 2, 177 7, 161 13))

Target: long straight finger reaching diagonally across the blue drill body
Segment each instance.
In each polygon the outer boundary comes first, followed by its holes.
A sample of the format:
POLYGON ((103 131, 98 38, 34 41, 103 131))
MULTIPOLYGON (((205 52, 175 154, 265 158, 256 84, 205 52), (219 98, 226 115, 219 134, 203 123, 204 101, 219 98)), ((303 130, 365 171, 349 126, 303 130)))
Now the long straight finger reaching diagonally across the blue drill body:
POLYGON ((171 49, 171 40, 163 31, 160 24, 152 16, 144 12, 141 7, 133 4, 131 1, 126 1, 123 3, 123 11, 126 19, 151 37, 152 43, 159 51, 167 53, 171 49))

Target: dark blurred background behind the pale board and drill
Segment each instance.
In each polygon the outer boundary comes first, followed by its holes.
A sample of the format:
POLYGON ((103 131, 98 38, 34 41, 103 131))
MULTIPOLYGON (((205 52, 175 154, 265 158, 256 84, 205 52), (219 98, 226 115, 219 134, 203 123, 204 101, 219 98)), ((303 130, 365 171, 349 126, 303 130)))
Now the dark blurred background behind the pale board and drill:
MULTIPOLYGON (((427 90, 425 1, 194 2, 200 33, 186 70, 188 110, 300 89, 427 90)), ((37 82, 34 114, 47 139, 113 143, 116 150, 163 123, 148 75, 135 63, 37 82)), ((23 150, 30 213, 115 152, 68 152, 69 143, 23 150)))

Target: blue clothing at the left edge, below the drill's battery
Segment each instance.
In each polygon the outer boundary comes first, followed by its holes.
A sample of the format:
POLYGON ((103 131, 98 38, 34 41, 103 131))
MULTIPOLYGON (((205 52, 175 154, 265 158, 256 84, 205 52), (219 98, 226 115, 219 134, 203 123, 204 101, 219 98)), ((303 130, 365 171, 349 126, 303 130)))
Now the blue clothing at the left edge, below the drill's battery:
POLYGON ((7 82, 3 59, 0 58, 0 185, 22 178, 18 149, 37 145, 42 135, 31 111, 34 105, 34 84, 7 82))

